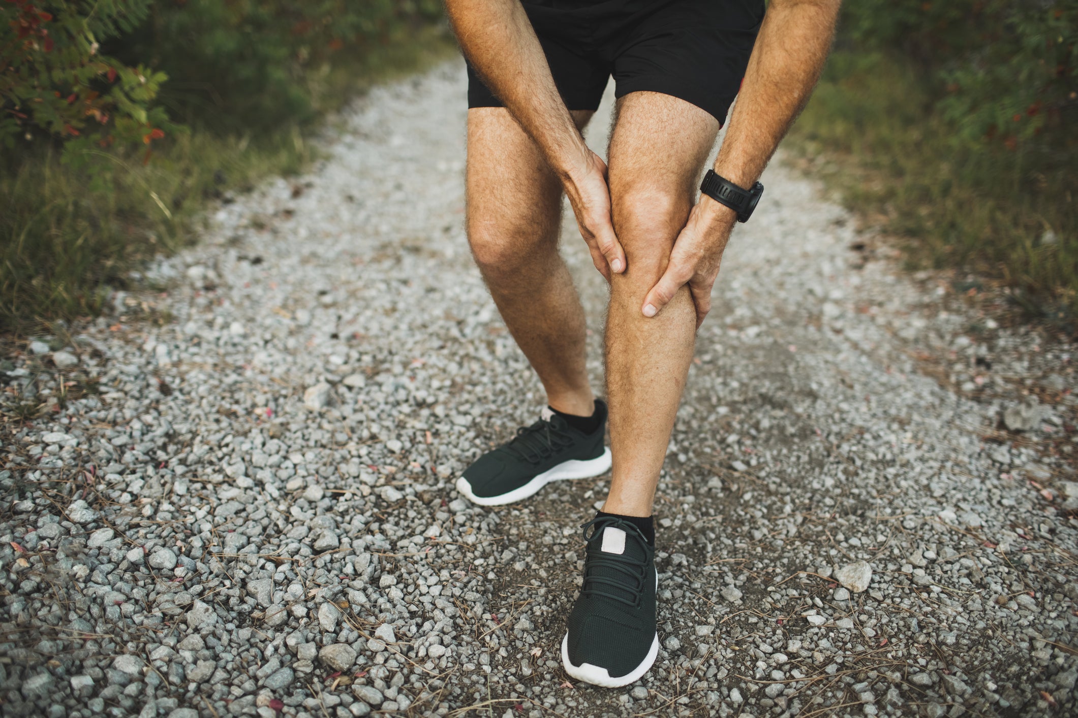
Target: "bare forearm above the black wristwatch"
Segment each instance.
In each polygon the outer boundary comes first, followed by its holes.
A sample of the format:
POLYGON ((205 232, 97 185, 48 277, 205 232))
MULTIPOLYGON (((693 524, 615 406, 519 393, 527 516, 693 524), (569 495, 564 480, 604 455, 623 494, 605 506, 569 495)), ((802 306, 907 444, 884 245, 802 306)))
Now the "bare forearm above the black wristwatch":
POLYGON ((819 79, 838 12, 839 0, 771 2, 715 161, 717 173, 742 187, 760 178, 819 79))

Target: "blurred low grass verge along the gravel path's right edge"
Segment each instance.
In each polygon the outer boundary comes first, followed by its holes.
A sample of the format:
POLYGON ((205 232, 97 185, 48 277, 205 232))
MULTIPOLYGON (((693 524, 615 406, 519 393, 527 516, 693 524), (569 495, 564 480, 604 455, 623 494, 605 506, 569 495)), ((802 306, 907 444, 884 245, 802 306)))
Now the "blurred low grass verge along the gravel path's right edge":
MULTIPOLYGON (((1055 321, 1078 313, 1078 152, 957 139, 904 59, 838 51, 790 137, 794 153, 915 268, 1011 288, 1055 321), (1054 238, 1054 241, 1053 241, 1054 238)), ((1056 138, 1059 140, 1059 138, 1056 138)))

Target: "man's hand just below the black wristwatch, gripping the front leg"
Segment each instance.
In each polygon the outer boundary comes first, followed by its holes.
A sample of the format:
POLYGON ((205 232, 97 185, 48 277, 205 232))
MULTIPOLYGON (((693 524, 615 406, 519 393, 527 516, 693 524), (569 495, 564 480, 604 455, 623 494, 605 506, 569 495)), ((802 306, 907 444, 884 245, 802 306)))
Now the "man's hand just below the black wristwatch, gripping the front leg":
POLYGON ((711 285, 719 276, 722 252, 730 239, 737 215, 710 197, 701 197, 689 221, 674 240, 669 264, 659 282, 644 298, 641 311, 654 316, 686 284, 696 307, 696 328, 711 309, 711 285))

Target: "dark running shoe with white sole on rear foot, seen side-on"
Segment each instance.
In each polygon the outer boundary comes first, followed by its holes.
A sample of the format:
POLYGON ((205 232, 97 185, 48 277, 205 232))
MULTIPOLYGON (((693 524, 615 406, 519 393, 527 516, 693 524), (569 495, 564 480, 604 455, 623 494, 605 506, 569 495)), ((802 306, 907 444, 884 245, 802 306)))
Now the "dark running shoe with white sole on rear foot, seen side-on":
POLYGON ((551 481, 606 473, 610 450, 603 444, 607 408, 602 399, 595 399, 595 411, 599 426, 584 434, 543 409, 539 421, 516 430, 512 441, 466 468, 457 479, 457 491, 480 506, 500 506, 523 501, 551 481))

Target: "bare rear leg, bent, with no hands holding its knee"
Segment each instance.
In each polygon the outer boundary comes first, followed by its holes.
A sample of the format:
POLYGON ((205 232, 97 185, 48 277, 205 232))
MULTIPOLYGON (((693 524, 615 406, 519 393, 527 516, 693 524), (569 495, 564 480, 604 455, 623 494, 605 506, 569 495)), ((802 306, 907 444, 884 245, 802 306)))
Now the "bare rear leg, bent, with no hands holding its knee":
MULTIPOLYGON (((590 111, 572 113, 579 127, 590 111)), ((502 108, 468 111, 468 241, 550 406, 591 416, 584 310, 557 251, 562 185, 502 108)))

